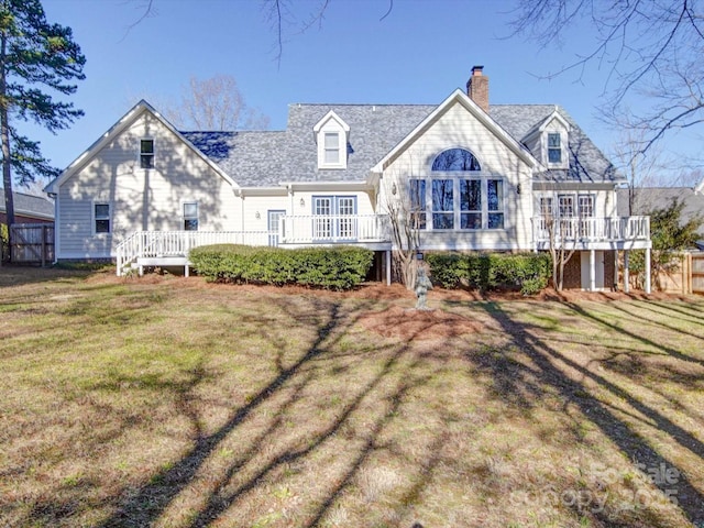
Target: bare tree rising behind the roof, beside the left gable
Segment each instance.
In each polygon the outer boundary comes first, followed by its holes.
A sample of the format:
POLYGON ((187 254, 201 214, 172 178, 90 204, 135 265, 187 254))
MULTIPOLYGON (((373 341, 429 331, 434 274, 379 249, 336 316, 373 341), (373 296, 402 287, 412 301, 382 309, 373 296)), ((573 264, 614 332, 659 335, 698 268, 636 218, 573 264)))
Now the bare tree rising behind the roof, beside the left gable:
POLYGON ((265 130, 268 117, 250 108, 237 80, 229 75, 190 78, 180 102, 167 105, 164 114, 179 129, 223 131, 265 130))

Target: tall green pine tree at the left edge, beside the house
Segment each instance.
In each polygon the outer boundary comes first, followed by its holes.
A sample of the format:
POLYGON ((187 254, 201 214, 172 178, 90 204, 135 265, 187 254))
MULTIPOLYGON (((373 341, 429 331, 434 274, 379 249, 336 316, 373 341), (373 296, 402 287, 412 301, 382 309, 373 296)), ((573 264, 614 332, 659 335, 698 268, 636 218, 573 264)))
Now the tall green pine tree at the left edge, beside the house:
POLYGON ((38 142, 21 135, 13 123, 33 121, 55 133, 82 116, 73 103, 42 89, 74 94, 72 81, 85 78, 85 63, 70 28, 48 23, 38 0, 0 0, 0 140, 8 226, 14 223, 12 173, 20 184, 58 175, 38 142))

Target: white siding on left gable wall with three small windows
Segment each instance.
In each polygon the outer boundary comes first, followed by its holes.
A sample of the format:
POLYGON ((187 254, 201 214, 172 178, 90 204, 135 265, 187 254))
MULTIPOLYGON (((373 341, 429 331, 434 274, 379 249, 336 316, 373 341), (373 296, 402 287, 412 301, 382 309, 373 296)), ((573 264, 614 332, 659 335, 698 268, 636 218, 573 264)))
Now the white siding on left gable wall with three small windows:
POLYGON ((196 201, 199 230, 234 230, 232 186, 150 112, 106 144, 58 191, 58 258, 107 257, 139 230, 183 229, 183 202, 196 201), (154 168, 140 168, 140 140, 154 140, 154 168), (111 205, 112 232, 92 233, 92 204, 111 205))

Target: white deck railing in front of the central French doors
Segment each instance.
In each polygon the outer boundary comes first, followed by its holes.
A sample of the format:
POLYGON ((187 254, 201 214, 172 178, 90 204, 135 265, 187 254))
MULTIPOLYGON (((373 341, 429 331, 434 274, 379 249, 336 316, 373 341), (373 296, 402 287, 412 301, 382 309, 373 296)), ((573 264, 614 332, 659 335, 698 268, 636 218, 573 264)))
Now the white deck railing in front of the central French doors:
POLYGON ((285 244, 388 242, 386 215, 284 216, 280 241, 285 244))

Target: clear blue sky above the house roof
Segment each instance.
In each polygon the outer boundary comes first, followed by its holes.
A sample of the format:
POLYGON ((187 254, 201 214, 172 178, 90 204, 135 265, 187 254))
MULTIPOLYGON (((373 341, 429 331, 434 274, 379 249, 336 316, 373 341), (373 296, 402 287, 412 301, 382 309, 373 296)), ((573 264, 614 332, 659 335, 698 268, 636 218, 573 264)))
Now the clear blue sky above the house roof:
MULTIPOLYGON (((295 102, 439 103, 464 88, 484 65, 492 103, 559 103, 606 153, 617 138, 597 118, 605 72, 582 78, 559 69, 584 51, 588 32, 562 48, 540 50, 507 38, 509 0, 331 0, 320 28, 297 28, 320 2, 293 0, 280 64, 276 35, 256 0, 44 0, 51 22, 68 25, 87 58, 86 80, 72 98, 86 116, 58 135, 32 131, 54 165, 64 168, 132 105, 179 96, 191 76, 231 75, 246 102, 286 127, 295 102)), ((682 143, 682 141, 680 141, 682 143)))

